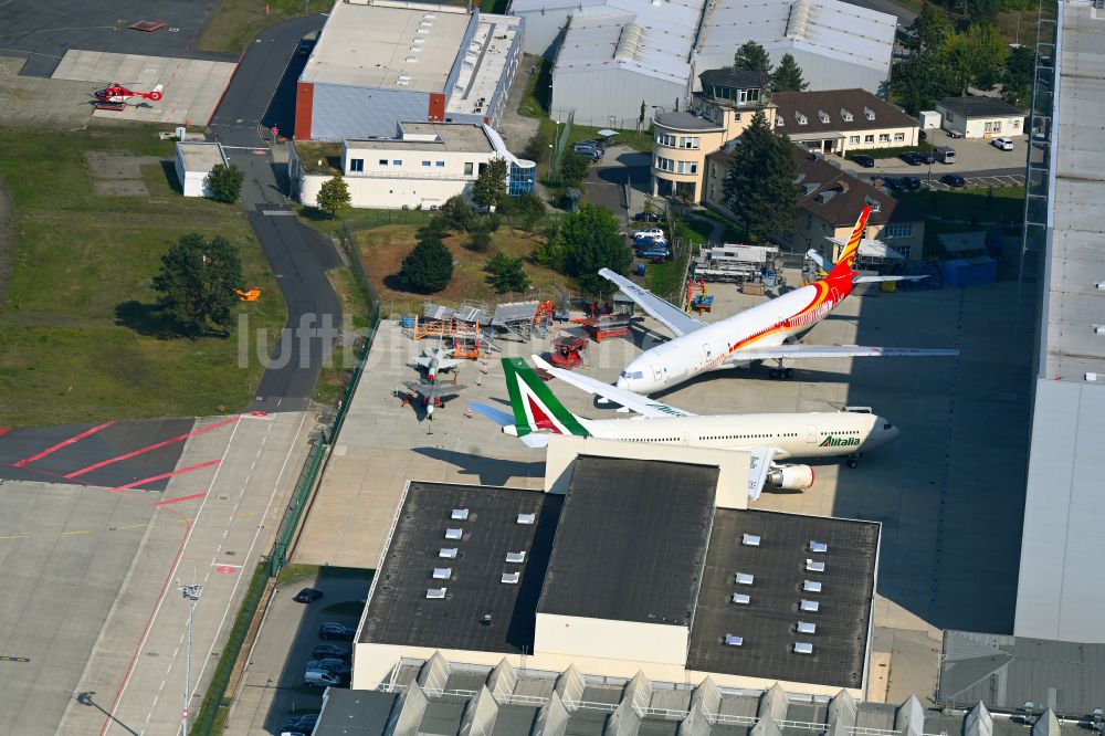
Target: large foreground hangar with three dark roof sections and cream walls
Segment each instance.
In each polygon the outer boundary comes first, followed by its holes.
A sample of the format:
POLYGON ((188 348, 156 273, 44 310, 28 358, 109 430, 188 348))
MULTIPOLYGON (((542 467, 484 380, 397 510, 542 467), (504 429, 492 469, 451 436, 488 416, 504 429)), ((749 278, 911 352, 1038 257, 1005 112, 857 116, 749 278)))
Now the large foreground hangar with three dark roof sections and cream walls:
POLYGON ((746 453, 644 461, 618 456, 624 443, 566 441, 567 466, 550 444, 548 492, 408 485, 355 643, 355 688, 443 656, 862 695, 877 524, 746 508, 729 492, 746 487, 734 482, 746 453))

